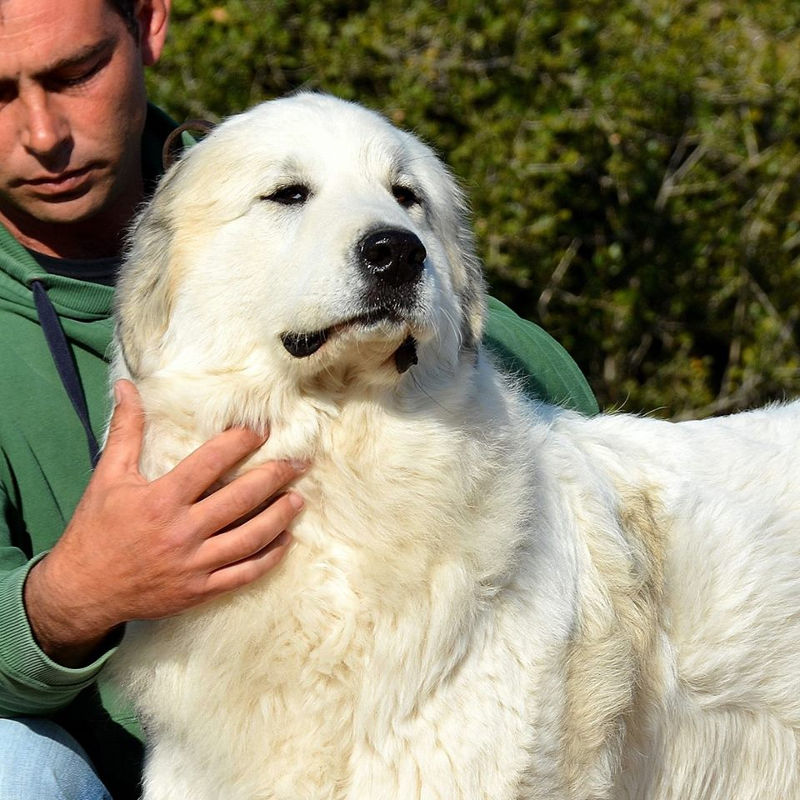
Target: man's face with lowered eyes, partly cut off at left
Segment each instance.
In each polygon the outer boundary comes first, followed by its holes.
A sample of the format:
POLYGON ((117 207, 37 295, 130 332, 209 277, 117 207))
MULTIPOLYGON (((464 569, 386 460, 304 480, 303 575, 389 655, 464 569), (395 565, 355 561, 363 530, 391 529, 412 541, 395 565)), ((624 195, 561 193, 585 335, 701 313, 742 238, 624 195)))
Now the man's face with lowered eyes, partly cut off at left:
POLYGON ((0 0, 0 222, 24 244, 62 255, 65 223, 141 199, 148 20, 137 41, 106 0, 0 0))

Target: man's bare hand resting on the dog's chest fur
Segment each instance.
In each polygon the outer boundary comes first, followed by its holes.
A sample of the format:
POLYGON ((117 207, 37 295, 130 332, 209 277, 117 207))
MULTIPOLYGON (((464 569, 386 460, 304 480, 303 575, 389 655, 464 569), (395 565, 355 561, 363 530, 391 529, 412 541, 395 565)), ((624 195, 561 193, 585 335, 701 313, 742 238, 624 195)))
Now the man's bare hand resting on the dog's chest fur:
POLYGON ((205 496, 264 443, 231 429, 148 482, 133 384, 116 386, 108 441, 61 539, 28 575, 25 606, 42 649, 78 666, 118 625, 167 617, 264 575, 280 561, 302 507, 281 492, 302 467, 274 461, 205 496), (264 504, 266 507, 264 507, 264 504))

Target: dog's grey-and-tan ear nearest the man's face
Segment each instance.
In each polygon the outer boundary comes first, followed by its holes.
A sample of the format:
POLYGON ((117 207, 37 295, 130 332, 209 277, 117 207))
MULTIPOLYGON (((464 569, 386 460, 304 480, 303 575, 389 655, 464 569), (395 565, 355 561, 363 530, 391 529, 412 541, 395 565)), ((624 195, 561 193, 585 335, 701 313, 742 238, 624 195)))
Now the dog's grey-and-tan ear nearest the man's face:
POLYGON ((182 162, 161 179, 152 201, 128 234, 128 247, 115 294, 116 339, 132 378, 151 368, 169 323, 175 183, 182 162))

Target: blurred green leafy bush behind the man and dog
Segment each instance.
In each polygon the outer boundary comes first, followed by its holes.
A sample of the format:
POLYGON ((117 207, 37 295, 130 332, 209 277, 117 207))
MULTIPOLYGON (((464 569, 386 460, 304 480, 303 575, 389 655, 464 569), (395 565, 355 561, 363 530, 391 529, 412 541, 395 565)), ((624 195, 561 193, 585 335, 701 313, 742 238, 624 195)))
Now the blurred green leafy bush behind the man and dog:
POLYGON ((601 405, 800 390, 796 0, 175 0, 170 35, 178 119, 313 88, 431 143, 493 292, 601 405))

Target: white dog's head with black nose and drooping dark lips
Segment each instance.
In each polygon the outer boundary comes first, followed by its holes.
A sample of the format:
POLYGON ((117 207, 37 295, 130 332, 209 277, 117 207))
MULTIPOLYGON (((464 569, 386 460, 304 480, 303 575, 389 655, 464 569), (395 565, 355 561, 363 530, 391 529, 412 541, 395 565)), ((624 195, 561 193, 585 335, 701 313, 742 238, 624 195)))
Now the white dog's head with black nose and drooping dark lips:
POLYGON ((398 381, 477 346, 483 282, 434 153, 353 103, 301 94, 220 125, 174 165, 117 293, 129 373, 266 370, 398 381))

